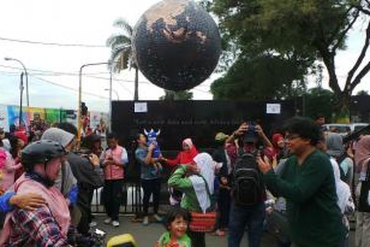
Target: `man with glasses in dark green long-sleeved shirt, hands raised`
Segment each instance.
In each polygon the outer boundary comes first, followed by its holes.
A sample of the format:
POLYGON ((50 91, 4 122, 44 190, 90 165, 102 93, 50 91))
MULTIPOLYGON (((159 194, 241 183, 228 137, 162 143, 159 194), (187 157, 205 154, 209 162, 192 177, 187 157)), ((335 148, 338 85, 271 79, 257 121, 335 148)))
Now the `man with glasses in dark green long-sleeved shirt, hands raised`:
POLYGON ((288 147, 293 155, 281 177, 267 161, 258 158, 269 190, 287 200, 293 243, 298 247, 339 247, 344 238, 340 209, 336 204, 333 167, 316 150, 320 130, 313 121, 293 118, 286 124, 288 147))

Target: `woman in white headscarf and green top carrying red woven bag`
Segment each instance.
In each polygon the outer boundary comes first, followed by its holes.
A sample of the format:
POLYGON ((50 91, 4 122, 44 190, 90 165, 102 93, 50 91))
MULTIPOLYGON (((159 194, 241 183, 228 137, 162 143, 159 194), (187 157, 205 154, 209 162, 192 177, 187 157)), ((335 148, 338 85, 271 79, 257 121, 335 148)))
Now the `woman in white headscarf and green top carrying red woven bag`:
POLYGON ((181 207, 191 212, 189 235, 194 247, 205 247, 205 233, 213 231, 216 163, 207 153, 194 158, 196 165, 182 165, 169 178, 168 186, 185 194, 181 207))

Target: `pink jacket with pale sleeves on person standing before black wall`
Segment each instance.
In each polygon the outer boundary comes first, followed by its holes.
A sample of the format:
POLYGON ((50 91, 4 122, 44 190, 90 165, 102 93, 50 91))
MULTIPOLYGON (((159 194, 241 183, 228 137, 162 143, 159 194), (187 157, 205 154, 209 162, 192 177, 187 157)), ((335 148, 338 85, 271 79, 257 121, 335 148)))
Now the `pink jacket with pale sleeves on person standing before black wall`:
MULTIPOLYGON (((104 161, 109 160, 109 158, 113 158, 115 163, 118 164, 127 164, 128 157, 126 149, 121 146, 117 146, 114 150, 107 150, 104 153, 104 161)), ((124 170, 123 167, 119 167, 117 165, 107 165, 104 168, 104 176, 106 180, 118 180, 124 178, 124 170)))

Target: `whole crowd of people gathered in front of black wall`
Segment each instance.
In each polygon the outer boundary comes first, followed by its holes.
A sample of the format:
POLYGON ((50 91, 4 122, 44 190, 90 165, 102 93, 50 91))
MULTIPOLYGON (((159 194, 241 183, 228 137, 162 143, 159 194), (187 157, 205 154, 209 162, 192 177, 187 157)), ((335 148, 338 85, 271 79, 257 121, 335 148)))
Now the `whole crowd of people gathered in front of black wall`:
MULTIPOLYGON (((370 246, 370 135, 343 143, 316 121, 295 117, 269 139, 246 122, 217 133, 210 154, 186 138, 176 158, 138 133, 134 157, 144 191, 143 225, 164 222, 156 247, 205 247, 207 232, 227 235, 239 247, 259 247, 268 229, 279 247, 349 247, 349 216, 356 211, 356 247, 370 246), (163 169, 170 210, 159 213, 163 169), (152 204, 150 204, 152 198, 152 204)), ((94 190, 104 187, 106 224, 120 226, 119 209, 129 155, 108 133, 87 135, 62 123, 29 141, 24 129, 0 129, 0 212, 6 215, 0 246, 79 246, 91 240, 94 190)), ((126 229, 130 232, 130 229, 126 229)), ((132 233, 135 235, 135 233, 132 233)), ((88 245, 88 244, 87 244, 88 245)))

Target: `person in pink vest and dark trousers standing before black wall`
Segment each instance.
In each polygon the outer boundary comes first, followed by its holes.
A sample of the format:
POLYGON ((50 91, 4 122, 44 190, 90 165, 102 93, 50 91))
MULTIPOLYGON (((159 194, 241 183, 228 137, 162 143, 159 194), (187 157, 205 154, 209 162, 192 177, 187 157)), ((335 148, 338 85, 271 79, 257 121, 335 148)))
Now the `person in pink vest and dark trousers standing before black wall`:
POLYGON ((102 155, 105 207, 108 214, 104 223, 119 227, 118 214, 122 198, 124 168, 128 163, 128 156, 126 149, 118 145, 118 138, 114 133, 107 134, 107 142, 109 149, 102 155))

